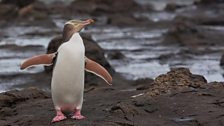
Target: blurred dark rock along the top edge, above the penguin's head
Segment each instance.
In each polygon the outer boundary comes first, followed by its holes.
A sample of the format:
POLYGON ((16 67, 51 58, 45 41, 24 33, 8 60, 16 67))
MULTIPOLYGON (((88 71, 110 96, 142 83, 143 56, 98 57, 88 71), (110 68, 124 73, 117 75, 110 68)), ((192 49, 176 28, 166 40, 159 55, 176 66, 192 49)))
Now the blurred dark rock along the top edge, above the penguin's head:
POLYGON ((72 10, 94 15, 105 13, 131 13, 141 7, 134 0, 76 0, 71 3, 72 10))

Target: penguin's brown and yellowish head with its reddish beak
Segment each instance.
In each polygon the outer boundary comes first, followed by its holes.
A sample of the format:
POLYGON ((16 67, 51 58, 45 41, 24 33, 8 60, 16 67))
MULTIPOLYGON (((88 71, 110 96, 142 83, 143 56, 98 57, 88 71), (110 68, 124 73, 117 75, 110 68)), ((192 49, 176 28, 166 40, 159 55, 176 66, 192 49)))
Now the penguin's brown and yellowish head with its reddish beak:
POLYGON ((63 41, 68 41, 74 33, 80 32, 85 26, 94 23, 93 19, 81 20, 70 20, 65 23, 63 29, 63 41))

